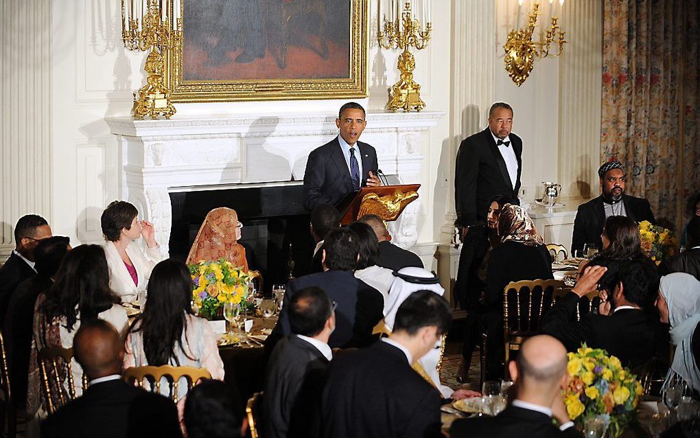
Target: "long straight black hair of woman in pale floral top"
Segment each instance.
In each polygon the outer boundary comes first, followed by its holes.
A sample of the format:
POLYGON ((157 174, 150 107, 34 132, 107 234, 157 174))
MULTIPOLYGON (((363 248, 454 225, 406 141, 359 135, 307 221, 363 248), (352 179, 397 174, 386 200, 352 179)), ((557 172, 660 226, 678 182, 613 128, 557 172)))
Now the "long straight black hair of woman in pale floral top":
POLYGON ((167 259, 153 267, 148 280, 148 304, 131 328, 132 332, 141 331, 144 337, 149 365, 160 367, 171 359, 179 365, 176 348, 188 355, 181 339, 187 329, 187 315, 194 315, 191 299, 192 278, 183 262, 167 259))

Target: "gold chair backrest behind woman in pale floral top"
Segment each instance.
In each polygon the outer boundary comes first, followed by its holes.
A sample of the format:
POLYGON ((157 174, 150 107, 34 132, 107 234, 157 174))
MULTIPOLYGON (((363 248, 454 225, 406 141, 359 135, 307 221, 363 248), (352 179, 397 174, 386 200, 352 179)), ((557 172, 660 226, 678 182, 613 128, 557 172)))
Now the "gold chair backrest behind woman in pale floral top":
POLYGON ((161 365, 153 367, 131 367, 124 370, 122 378, 127 383, 137 383, 141 388, 163 394, 160 390, 160 381, 165 378, 168 383, 168 394, 172 401, 177 404, 180 389, 180 379, 187 381, 187 392, 197 385, 197 382, 204 378, 211 378, 211 374, 205 368, 195 367, 173 367, 172 365, 161 365), (144 381, 148 383, 144 385, 144 381))

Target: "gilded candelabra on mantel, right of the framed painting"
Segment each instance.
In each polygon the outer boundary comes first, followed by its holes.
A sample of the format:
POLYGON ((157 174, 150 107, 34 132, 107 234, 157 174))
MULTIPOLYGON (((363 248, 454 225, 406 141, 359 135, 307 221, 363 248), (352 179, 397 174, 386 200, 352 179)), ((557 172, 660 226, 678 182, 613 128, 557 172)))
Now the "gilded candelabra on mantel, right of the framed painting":
POLYGON ((413 47, 416 50, 426 48, 430 40, 430 30, 432 29, 432 24, 427 22, 423 30, 418 20, 413 17, 411 4, 408 1, 401 13, 400 20, 398 20, 398 17, 396 20, 386 20, 386 16, 384 17, 384 32, 377 32, 379 46, 387 49, 398 48, 403 50, 398 57, 396 66, 401 75, 389 91, 388 109, 392 111, 398 109, 421 111, 421 109, 426 107, 426 102, 423 102, 421 99, 421 85, 413 79, 413 71, 416 69, 416 58, 409 52, 408 48, 413 47))

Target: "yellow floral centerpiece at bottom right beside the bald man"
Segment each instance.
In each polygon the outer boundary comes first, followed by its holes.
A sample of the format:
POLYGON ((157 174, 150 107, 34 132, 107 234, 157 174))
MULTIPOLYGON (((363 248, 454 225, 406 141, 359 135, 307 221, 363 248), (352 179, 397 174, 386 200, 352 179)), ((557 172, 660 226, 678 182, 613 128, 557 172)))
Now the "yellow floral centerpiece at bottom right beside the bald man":
POLYGON ((576 353, 568 353, 566 371, 570 376, 563 391, 566 411, 578 427, 584 420, 599 417, 611 437, 619 437, 635 416, 642 385, 619 359, 600 348, 584 343, 576 353))

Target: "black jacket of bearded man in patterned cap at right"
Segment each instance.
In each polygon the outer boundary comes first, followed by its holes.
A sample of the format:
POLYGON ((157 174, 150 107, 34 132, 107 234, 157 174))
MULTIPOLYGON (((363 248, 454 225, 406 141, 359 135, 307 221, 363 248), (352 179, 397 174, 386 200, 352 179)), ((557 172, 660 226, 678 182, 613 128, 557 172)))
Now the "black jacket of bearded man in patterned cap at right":
MULTIPOLYGON (((635 222, 650 221, 655 224, 654 213, 649 201, 644 198, 622 195, 624 210, 629 219, 635 222)), ((578 206, 576 219, 573 221, 573 235, 571 237, 571 254, 575 251, 583 251, 583 245, 595 243, 599 250, 603 249, 601 234, 605 225, 605 207, 603 196, 593 198, 587 203, 578 206)))

